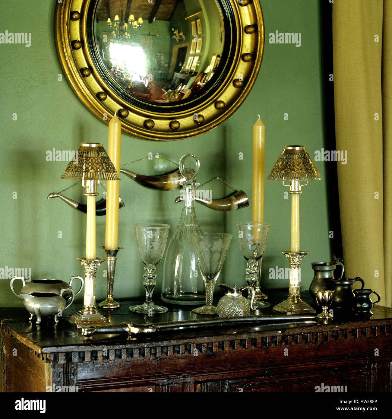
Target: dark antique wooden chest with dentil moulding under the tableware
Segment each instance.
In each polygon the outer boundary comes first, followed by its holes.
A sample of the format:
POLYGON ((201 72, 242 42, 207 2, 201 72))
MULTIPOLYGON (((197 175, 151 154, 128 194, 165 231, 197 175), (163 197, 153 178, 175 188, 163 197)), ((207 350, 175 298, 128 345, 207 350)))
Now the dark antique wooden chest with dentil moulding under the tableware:
MULTIPOLYGON (((283 297, 271 295, 271 303, 283 297)), ((152 321, 129 314, 132 303, 123 302, 111 323, 152 321)), ((335 391, 390 392, 392 309, 373 312, 369 320, 352 316, 335 317, 330 324, 188 328, 135 339, 85 338, 65 318, 57 325, 47 320, 37 326, 27 320, 24 308, 4 308, 2 390, 315 392, 317 386, 324 391, 334 386, 335 391)), ((174 308, 153 321, 199 316, 174 308)))

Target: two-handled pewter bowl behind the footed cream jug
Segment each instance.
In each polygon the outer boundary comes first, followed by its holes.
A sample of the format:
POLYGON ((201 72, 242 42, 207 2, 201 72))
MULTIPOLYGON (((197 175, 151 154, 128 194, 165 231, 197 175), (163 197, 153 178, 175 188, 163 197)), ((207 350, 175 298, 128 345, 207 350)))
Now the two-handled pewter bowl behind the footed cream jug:
MULTIPOLYGON (((11 279, 10 287, 11 291, 19 297, 21 292, 24 292, 26 294, 33 294, 34 292, 50 292, 55 295, 61 295, 62 290, 67 291, 67 293, 64 293, 64 297, 70 297, 71 290, 72 290, 72 281, 77 278, 80 279, 80 288, 77 292, 74 292, 75 297, 79 294, 79 292, 82 290, 84 285, 84 279, 82 277, 71 277, 70 283, 60 281, 59 279, 33 279, 30 281, 26 281, 23 277, 14 277, 11 279), (13 282, 15 279, 20 279, 23 282, 23 287, 21 288, 21 291, 19 293, 15 292, 13 288, 13 282)), ((72 290, 73 291, 73 290, 72 290)))

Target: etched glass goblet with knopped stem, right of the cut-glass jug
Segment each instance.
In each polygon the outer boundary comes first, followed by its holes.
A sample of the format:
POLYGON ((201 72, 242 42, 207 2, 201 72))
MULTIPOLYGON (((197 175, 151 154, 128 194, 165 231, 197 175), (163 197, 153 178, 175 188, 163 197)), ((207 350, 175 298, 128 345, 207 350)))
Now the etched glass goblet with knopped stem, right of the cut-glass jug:
MULTIPOLYGON (((258 221, 237 222, 241 253, 248 261, 245 279, 253 289, 258 282, 258 261, 260 261, 261 272, 261 257, 266 249, 270 225, 268 222, 258 221)), ((265 301, 255 300, 253 305, 255 308, 266 308, 271 304, 265 301)))

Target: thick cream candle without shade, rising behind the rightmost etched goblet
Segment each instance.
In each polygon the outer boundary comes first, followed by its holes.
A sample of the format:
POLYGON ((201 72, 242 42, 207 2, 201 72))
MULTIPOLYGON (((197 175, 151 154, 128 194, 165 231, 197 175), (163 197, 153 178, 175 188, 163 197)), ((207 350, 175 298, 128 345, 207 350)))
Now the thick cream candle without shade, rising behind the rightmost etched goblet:
POLYGON ((264 222, 264 153, 266 128, 260 120, 253 126, 252 221, 264 222))

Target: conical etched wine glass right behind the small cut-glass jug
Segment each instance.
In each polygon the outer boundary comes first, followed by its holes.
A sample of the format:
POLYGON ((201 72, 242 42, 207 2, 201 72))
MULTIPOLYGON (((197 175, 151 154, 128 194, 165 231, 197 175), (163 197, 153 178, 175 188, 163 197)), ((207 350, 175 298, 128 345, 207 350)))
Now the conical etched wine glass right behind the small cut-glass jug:
POLYGON ((193 234, 192 243, 195 249, 197 263, 206 285, 206 305, 194 308, 193 313, 218 314, 217 308, 212 305, 214 286, 222 270, 227 249, 230 246, 232 234, 204 233, 193 234))

